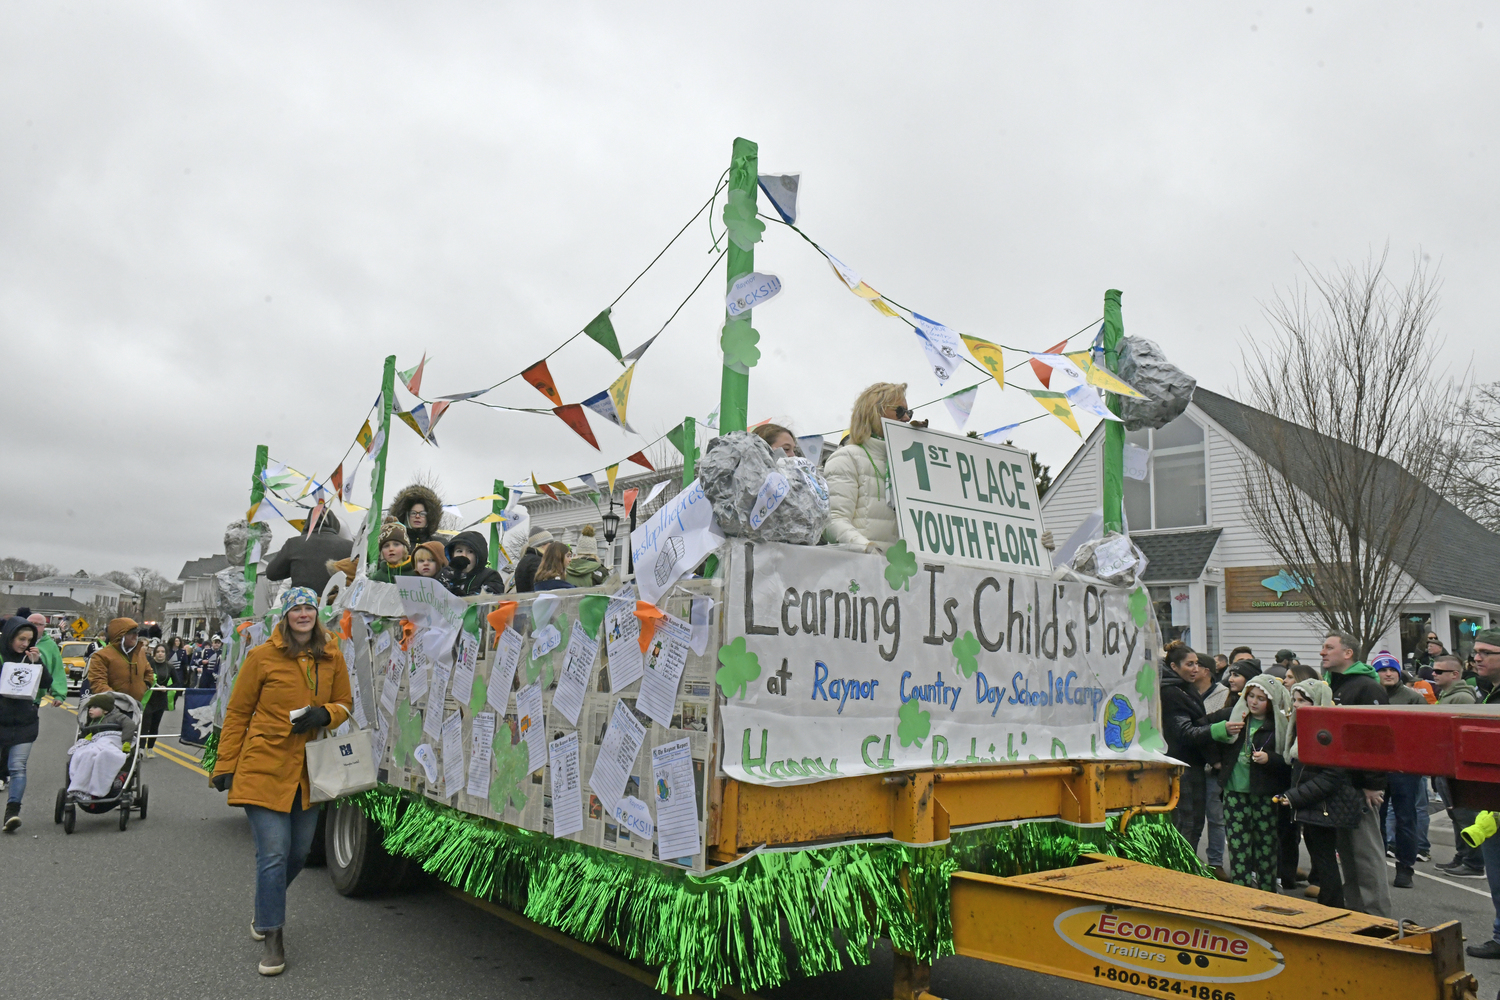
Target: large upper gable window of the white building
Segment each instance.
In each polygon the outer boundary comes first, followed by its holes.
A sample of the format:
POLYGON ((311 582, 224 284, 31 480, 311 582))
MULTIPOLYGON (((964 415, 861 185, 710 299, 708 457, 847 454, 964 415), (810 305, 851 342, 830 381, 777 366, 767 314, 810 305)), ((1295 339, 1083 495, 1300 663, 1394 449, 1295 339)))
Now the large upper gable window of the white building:
POLYGON ((1160 430, 1131 430, 1125 442, 1150 451, 1144 480, 1125 480, 1125 520, 1132 531, 1206 525, 1208 465, 1203 427, 1178 417, 1160 430))

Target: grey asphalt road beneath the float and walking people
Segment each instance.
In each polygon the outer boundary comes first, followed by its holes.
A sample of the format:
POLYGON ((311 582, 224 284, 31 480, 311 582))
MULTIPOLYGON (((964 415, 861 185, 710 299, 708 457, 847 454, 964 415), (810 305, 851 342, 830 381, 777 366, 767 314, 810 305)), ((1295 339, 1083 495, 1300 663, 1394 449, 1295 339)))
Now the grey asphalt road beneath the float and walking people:
MULTIPOLYGON (((658 994, 562 945, 520 930, 435 882, 376 900, 346 900, 309 868, 288 901, 286 972, 255 972, 249 939, 254 849, 238 810, 201 772, 166 753, 146 763, 150 816, 120 832, 117 814, 78 816, 66 837, 52 825, 74 717, 44 709, 32 753, 24 820, 0 837, 0 996, 15 1000, 378 1000, 423 996, 646 1000, 658 994)), ((177 714, 162 729, 176 732, 177 714)), ((164 741, 176 747, 176 741, 164 741)), ((1436 816, 1434 820, 1440 820, 1436 816)), ((1434 823, 1432 840, 1450 843, 1434 823)), ((1437 849, 1446 861, 1448 849, 1437 849)), ((1431 873, 1431 865, 1422 865, 1431 873)), ((1494 910, 1480 880, 1418 879, 1396 894, 1419 924, 1460 919, 1470 940, 1488 936, 1494 910)), ((1478 963, 1480 997, 1500 988, 1500 963, 1478 963)), ((891 955, 870 966, 771 991, 777 1000, 890 996, 891 955)), ((951 1000, 1125 997, 1066 979, 966 958, 933 969, 933 993, 951 1000)))

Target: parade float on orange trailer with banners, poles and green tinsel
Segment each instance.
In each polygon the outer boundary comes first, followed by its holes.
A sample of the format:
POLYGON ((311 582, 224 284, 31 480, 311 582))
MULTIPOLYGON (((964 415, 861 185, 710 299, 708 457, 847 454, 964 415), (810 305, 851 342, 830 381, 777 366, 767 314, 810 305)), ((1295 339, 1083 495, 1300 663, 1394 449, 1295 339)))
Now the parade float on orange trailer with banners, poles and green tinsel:
MULTIPOLYGON (((1218 883, 1166 816, 1180 768, 1161 738, 1140 555, 1120 532, 1119 411, 1131 399, 1137 420, 1166 423, 1186 397, 1174 370, 1120 372, 1119 292, 1106 294, 1092 348, 1020 354, 1072 379, 1030 390, 1042 415, 1112 421, 1101 531, 1071 546, 1066 564, 1041 544, 1024 451, 896 421, 884 427, 900 541, 884 552, 796 544, 788 538, 806 531, 807 496, 816 505, 816 466, 780 466, 777 481, 724 462, 744 438, 734 432, 746 427, 759 357, 748 306, 771 288, 754 271, 756 190, 794 226, 795 178, 760 175, 754 144, 738 139, 724 187, 723 451, 699 454, 692 421, 668 435, 682 451, 682 490, 632 532, 634 573, 603 588, 471 598, 432 579, 358 576, 326 609, 380 780, 328 811, 339 891, 376 892, 417 864, 650 970, 674 996, 868 963, 882 939, 896 951, 897 997, 928 996, 932 964, 956 954, 1202 1000, 1460 996, 1455 924, 1396 927, 1218 883), (1152 379, 1156 393, 1136 388, 1152 379)), ((852 292, 912 324, 939 381, 963 361, 1005 388, 1004 352, 1016 348, 910 313, 828 259, 852 292)), ((630 358, 608 309, 580 333, 630 358)), ((624 391, 616 382, 586 409, 624 426, 645 346, 624 391)), ((592 444, 546 358, 525 375, 592 444)), ((418 394, 410 373, 402 384, 418 394)), ((376 558, 393 409, 426 438, 448 408, 436 402, 488 391, 424 400, 414 417, 394 390, 387 358, 357 435, 372 460, 362 571, 376 558)), ((644 463, 640 451, 630 459, 644 463)), ((597 471, 610 495, 616 469, 597 471)), ((262 448, 250 525, 266 520, 262 505, 294 499, 279 472, 262 448)), ((597 486, 594 474, 578 478, 597 486)), ((308 477, 303 495, 345 502, 351 480, 339 463, 322 481, 308 477)), ((531 486, 567 489, 536 475, 531 486)), ((492 559, 516 492, 496 481, 478 498, 494 504, 483 519, 492 559)), ((258 553, 246 549, 246 607, 216 699, 198 709, 206 724, 222 721, 238 663, 272 624, 254 606, 258 553)))

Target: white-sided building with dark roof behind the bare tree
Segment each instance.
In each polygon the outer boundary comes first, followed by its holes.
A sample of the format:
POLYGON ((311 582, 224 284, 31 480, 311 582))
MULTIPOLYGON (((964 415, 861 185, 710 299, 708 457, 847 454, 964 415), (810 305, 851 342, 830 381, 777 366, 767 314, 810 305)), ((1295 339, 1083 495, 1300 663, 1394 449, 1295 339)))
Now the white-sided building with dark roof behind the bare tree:
MULTIPOLYGON (((1302 598, 1296 582, 1244 507, 1242 456, 1254 448, 1256 418, 1274 420, 1200 387, 1166 427, 1126 433, 1128 444, 1149 453, 1146 477, 1125 480, 1126 528, 1150 559, 1144 579, 1166 639, 1182 637, 1208 654, 1244 645, 1266 663, 1286 648, 1316 664, 1323 628, 1294 610, 1302 598)), ((1042 498, 1059 543, 1100 508, 1102 442, 1100 424, 1042 498)), ((1314 483, 1299 486, 1316 495, 1314 483)), ((1500 535, 1446 502, 1422 531, 1430 535, 1426 562, 1414 571, 1400 625, 1380 646, 1404 658, 1431 628, 1448 649, 1467 654, 1473 633, 1500 618, 1500 576, 1492 571, 1500 535)))

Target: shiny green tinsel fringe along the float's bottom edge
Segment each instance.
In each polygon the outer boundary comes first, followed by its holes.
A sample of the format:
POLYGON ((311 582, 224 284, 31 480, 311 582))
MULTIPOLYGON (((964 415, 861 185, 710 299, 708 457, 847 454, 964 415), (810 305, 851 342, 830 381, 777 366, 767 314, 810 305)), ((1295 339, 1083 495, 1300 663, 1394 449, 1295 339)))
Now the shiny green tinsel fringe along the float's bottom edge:
POLYGON ((765 852, 694 876, 387 786, 357 801, 392 853, 420 859, 464 892, 660 969, 657 988, 676 994, 768 990, 794 972, 818 976, 866 964, 880 937, 936 963, 952 954, 948 883, 957 870, 1011 876, 1106 853, 1208 874, 1162 816, 1137 817, 1124 835, 1118 820, 1106 828, 1036 822, 960 831, 934 847, 850 843, 765 852))

